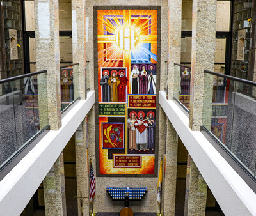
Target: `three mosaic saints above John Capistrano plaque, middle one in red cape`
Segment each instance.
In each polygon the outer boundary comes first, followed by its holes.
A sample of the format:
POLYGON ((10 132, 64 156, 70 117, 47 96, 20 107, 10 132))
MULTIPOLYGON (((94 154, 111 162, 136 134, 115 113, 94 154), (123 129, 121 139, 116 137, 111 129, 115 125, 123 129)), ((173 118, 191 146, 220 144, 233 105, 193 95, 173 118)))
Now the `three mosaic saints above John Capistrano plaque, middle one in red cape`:
POLYGON ((129 149, 138 151, 149 151, 155 148, 156 120, 154 112, 147 113, 132 111, 128 119, 129 149))

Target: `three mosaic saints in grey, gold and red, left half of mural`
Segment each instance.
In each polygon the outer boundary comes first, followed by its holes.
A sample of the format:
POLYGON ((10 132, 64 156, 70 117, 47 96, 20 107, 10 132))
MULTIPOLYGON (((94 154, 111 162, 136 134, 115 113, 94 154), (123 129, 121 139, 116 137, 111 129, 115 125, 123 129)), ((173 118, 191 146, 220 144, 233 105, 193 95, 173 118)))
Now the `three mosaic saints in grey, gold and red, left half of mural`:
POLYGON ((128 79, 125 70, 104 70, 100 85, 102 86, 102 102, 125 102, 125 91, 128 79))

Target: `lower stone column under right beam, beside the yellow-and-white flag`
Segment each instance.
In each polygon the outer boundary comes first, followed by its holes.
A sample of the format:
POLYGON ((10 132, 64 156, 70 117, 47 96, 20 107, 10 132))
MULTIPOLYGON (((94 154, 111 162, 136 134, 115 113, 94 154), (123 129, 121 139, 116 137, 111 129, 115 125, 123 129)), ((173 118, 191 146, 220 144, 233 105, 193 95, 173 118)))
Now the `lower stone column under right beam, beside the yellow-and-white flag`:
POLYGON ((166 173, 164 185, 164 215, 175 215, 177 179, 178 135, 172 123, 167 121, 166 173))

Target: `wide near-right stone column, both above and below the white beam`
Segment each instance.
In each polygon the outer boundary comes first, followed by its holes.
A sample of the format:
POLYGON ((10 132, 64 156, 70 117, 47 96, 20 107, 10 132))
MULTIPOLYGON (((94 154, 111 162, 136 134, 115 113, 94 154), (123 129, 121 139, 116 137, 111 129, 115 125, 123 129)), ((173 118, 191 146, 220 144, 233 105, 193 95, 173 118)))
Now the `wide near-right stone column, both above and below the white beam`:
MULTIPOLYGON (((191 109, 189 127, 211 127, 213 76, 216 42, 216 0, 193 0, 191 53, 191 109)), ((205 215, 207 184, 193 158, 188 157, 186 206, 184 215, 205 215), (190 164, 190 167, 189 167, 190 164)))

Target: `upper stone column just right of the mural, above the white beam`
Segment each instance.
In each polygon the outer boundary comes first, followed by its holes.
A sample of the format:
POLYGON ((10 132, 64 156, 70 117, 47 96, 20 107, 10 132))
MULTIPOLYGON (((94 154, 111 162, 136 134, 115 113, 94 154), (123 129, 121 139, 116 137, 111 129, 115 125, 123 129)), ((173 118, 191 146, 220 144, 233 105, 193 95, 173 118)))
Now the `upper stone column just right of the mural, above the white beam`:
MULTIPOLYGON (((168 32, 168 100, 173 100, 175 91, 179 92, 179 73, 174 70, 174 63, 180 63, 181 12, 182 0, 169 0, 169 32, 168 32)), ((179 99, 179 98, 177 98, 179 99)))

